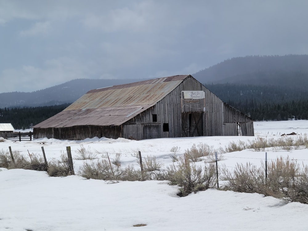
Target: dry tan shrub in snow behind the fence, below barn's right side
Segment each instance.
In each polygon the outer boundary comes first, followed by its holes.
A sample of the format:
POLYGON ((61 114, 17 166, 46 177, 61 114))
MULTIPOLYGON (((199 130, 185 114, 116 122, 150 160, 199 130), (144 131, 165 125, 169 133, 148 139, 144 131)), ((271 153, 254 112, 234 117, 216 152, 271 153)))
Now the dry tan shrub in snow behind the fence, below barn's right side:
POLYGON ((190 149, 185 150, 184 155, 191 162, 198 162, 202 160, 202 157, 214 155, 213 146, 209 146, 208 144, 193 144, 190 149))

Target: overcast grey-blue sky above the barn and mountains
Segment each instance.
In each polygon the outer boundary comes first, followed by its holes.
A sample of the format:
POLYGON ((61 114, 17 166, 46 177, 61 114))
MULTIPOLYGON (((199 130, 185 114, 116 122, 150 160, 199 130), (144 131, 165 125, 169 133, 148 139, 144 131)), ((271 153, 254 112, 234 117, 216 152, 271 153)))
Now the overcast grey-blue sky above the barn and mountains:
POLYGON ((0 0, 0 93, 308 54, 307 10, 306 0, 0 0))

